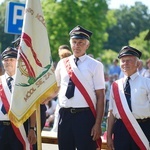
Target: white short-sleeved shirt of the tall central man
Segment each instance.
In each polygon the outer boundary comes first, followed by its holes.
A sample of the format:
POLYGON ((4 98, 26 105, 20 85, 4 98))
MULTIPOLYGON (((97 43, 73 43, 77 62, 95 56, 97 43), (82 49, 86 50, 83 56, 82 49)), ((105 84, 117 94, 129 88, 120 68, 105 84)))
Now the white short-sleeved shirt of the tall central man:
MULTIPOLYGON (((73 55, 70 57, 71 59, 74 59, 73 55)), ((79 57, 78 69, 82 73, 88 85, 91 87, 94 95, 95 95, 95 90, 105 89, 103 64, 101 62, 87 55, 84 55, 82 57, 79 57)), ((82 96, 81 92, 76 87, 75 87, 74 97, 68 99, 65 96, 70 77, 66 71, 66 67, 63 59, 58 62, 58 65, 55 70, 55 75, 56 75, 57 85, 60 86, 60 91, 58 94, 58 103, 61 107, 65 107, 65 108, 89 107, 86 100, 82 96)), ((80 82, 82 83, 82 81, 80 82)), ((95 97, 92 98, 94 103, 95 103, 95 97)))

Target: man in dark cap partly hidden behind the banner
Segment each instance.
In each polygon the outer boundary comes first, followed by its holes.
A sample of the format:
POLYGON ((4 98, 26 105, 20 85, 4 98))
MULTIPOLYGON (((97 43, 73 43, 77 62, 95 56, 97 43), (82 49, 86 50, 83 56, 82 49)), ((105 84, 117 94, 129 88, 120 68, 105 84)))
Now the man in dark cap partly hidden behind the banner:
POLYGON ((4 75, 0 76, 0 149, 1 150, 30 150, 30 144, 36 143, 35 114, 31 115, 31 126, 27 135, 24 126, 17 128, 8 118, 11 92, 13 89, 16 71, 17 51, 8 47, 2 53, 2 63, 5 69, 4 75))

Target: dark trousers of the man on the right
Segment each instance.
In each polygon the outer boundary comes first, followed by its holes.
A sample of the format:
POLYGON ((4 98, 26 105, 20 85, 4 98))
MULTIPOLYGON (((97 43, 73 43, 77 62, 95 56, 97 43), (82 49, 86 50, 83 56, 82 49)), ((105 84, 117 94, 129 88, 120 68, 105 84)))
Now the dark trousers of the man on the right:
MULTIPOLYGON (((139 125, 150 142, 150 120, 140 122, 139 125)), ((140 150, 121 119, 114 125, 114 147, 115 150, 140 150)))

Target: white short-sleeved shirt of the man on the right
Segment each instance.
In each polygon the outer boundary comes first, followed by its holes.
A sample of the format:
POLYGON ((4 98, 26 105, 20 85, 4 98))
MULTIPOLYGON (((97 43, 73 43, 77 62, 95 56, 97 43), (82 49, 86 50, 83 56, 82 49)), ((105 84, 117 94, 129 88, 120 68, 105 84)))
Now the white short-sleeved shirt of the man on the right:
MULTIPOLYGON (((123 80, 122 84, 124 85, 126 78, 125 76, 120 79, 123 80)), ((130 78, 132 114, 136 119, 150 118, 150 79, 142 77, 138 73, 133 74, 130 78)), ((110 92, 109 110, 113 110, 113 115, 117 119, 120 118, 112 88, 110 92)))

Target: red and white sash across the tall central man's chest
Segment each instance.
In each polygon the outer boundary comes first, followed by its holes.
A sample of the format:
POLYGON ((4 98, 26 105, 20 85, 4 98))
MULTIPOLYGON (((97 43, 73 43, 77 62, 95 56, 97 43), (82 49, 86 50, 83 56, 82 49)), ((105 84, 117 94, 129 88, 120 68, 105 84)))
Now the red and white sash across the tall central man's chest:
MULTIPOLYGON (((65 64, 67 73, 70 76, 71 80, 74 82, 75 86, 79 89, 79 91, 81 92, 81 94, 85 98, 85 100, 86 100, 87 104, 89 105, 94 117, 96 117, 95 106, 94 106, 94 104, 92 102, 92 99, 91 99, 91 96, 90 96, 90 95, 93 95, 93 92, 91 92, 91 90, 90 90, 91 88, 86 84, 87 82, 84 81, 85 79, 80 74, 77 66, 75 65, 75 62, 72 59, 69 59, 69 58, 64 59, 64 64, 65 64), (76 71, 78 73, 78 75, 79 75, 78 77, 76 76, 75 72, 73 72, 72 67, 74 68, 74 71, 76 71), (79 80, 79 78, 82 78, 82 79, 79 80), (85 83, 84 86, 80 81, 85 83)), ((96 143, 97 143, 97 146, 99 148, 101 148, 101 144, 102 144, 101 137, 96 141, 96 143)))

